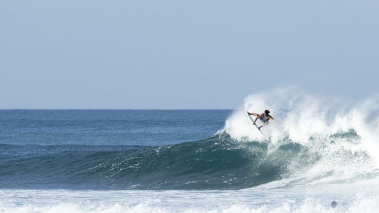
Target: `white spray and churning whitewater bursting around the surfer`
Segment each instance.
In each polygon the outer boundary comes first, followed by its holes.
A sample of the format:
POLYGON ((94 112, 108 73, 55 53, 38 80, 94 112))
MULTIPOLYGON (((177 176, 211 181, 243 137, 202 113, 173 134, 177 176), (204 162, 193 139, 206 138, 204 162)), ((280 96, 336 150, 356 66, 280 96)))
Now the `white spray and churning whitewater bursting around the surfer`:
POLYGON ((292 141, 322 155, 321 160, 309 168, 298 169, 299 162, 294 163, 292 177, 296 176, 295 179, 305 184, 312 180, 324 183, 351 180, 379 168, 378 109, 377 96, 352 102, 296 89, 275 89, 246 97, 244 104, 227 119, 223 131, 237 140, 264 141, 247 118, 246 110, 258 114, 269 110, 277 122, 269 121, 262 131, 269 135, 273 146, 292 141), (358 136, 333 137, 347 132, 356 132, 358 136), (362 152, 368 153, 370 160, 362 156, 362 152), (356 156, 352 158, 354 153, 356 156), (326 175, 329 173, 333 174, 326 175), (318 178, 321 176, 325 178, 318 178))

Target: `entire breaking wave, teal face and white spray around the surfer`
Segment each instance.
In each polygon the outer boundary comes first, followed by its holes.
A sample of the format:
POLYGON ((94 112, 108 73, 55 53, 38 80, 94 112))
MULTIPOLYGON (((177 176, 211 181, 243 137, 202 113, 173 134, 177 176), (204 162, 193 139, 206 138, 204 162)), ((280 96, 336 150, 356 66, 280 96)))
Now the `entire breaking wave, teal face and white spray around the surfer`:
POLYGON ((0 145, 0 188, 236 190, 379 174, 379 99, 252 94, 213 137, 170 146, 0 145), (246 110, 277 120, 261 138, 246 110), (22 148, 22 149, 21 149, 22 148), (23 153, 23 150, 26 151, 23 153))

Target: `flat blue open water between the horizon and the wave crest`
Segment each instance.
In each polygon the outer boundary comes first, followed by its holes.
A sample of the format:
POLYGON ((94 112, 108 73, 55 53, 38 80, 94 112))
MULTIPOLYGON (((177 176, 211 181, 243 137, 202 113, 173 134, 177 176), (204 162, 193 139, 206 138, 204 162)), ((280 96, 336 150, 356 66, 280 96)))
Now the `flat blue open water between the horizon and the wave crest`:
POLYGON ((163 146, 210 137, 231 110, 0 110, 0 144, 163 146))

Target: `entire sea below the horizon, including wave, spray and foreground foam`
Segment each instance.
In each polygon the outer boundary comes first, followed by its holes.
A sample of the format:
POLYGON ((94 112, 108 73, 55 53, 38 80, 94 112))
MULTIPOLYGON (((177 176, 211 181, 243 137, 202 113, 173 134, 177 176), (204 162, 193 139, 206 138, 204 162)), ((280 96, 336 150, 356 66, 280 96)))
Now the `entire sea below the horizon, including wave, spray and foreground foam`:
POLYGON ((378 99, 269 95, 235 110, 0 110, 0 212, 377 212, 378 99), (245 113, 265 109, 267 138, 245 113))

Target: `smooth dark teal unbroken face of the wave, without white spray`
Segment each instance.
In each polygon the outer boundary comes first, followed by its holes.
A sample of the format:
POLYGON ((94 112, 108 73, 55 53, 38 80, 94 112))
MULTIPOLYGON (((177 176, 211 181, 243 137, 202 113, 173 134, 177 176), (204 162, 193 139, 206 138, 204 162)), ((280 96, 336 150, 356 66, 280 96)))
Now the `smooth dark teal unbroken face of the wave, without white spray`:
MULTIPOLYGON (((190 143, 129 147, 126 151, 72 148, 75 150, 55 152, 51 150, 62 148, 50 147, 47 155, 3 158, 0 187, 241 189, 280 179, 291 153, 302 152, 296 145, 287 145, 268 153, 265 144, 241 144, 225 133, 190 143), (288 158, 281 158, 284 153, 288 158)), ((7 149, 12 152, 19 147, 2 145, 2 150, 7 149)))

